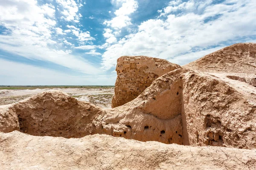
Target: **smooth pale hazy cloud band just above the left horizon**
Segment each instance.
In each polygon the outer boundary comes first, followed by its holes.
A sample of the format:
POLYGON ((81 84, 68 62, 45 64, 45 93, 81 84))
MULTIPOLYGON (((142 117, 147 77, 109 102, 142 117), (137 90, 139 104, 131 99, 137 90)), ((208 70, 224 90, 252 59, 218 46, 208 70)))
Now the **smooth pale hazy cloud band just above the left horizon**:
POLYGON ((113 85, 116 75, 73 76, 0 59, 0 79, 1 85, 113 85))

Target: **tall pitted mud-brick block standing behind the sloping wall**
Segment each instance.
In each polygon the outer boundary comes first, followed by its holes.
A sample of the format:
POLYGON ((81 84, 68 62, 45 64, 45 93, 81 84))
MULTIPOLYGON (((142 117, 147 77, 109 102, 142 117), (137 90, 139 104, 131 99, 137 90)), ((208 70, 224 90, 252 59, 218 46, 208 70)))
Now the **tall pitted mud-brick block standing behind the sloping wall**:
POLYGON ((180 68, 165 59, 146 56, 122 56, 117 59, 115 95, 112 108, 124 105, 139 96, 163 74, 180 68))

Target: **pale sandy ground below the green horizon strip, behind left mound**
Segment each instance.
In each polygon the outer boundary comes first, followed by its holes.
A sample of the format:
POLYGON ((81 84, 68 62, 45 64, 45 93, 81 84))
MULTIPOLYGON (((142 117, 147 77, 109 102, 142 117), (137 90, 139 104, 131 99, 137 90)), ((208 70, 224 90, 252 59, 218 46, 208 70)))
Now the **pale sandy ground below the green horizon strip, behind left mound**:
POLYGON ((0 105, 8 105, 19 102, 32 95, 49 90, 62 91, 80 101, 91 102, 102 108, 111 108, 111 100, 114 94, 114 88, 38 88, 33 90, 0 90, 0 105))

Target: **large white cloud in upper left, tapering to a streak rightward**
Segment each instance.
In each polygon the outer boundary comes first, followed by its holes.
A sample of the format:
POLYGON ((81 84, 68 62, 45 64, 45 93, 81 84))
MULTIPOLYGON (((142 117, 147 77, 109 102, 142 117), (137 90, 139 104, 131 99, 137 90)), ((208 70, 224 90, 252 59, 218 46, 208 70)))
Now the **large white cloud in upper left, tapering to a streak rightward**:
MULTIPOLYGON (((90 62, 71 55, 70 49, 52 48, 62 42, 52 37, 57 29, 56 21, 46 6, 51 5, 38 6, 36 0, 0 1, 0 25, 9 30, 9 34, 0 35, 0 50, 28 59, 53 62, 85 74, 99 74, 99 69, 90 62)), ((78 39, 81 42, 90 39, 88 34, 79 31, 78 39)), ((72 45, 67 41, 64 43, 72 45)))

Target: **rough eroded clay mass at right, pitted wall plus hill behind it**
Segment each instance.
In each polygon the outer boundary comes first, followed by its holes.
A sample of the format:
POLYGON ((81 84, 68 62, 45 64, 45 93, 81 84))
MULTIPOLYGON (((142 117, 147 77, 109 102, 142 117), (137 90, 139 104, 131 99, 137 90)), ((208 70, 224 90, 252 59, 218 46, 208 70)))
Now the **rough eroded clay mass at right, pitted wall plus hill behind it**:
POLYGON ((256 148, 256 43, 239 43, 184 68, 189 143, 256 148))

